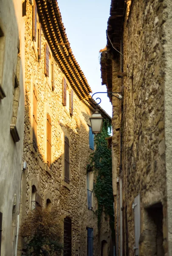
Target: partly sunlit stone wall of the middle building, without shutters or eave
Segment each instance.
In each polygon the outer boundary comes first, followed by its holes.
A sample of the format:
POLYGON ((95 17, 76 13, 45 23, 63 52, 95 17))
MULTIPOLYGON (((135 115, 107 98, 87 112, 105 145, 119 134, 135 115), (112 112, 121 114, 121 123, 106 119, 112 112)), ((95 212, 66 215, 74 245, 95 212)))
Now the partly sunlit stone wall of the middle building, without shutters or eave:
MULTIPOLYGON (((69 216, 72 219, 72 255, 86 255, 87 230, 93 228, 94 255, 101 254, 101 241, 110 239, 109 222, 103 216, 100 234, 97 228, 96 198, 93 196, 93 210, 87 206, 87 164, 90 161, 89 124, 90 109, 73 92, 73 116, 62 105, 62 73, 54 61, 54 90, 44 73, 45 37, 41 35, 41 59, 38 61, 34 41, 32 40, 32 6, 27 1, 25 17, 25 132, 23 161, 28 166, 22 180, 21 212, 23 223, 31 209, 31 186, 35 185, 45 206, 46 193, 54 207, 60 212, 60 218, 69 216), (37 143, 38 151, 33 148, 33 87, 37 89, 37 143), (46 162, 46 113, 51 116, 51 152, 52 169, 46 162), (70 143, 70 184, 64 182, 64 137, 70 143), (79 246, 79 251, 75 248, 79 246)), ((67 80, 67 79, 66 79, 67 80)), ((70 83, 67 80, 70 87, 70 83)), ((95 177, 94 177, 95 179, 95 177)), ((93 179, 92 179, 93 180, 93 179)), ((23 249, 20 237, 18 255, 23 249)))

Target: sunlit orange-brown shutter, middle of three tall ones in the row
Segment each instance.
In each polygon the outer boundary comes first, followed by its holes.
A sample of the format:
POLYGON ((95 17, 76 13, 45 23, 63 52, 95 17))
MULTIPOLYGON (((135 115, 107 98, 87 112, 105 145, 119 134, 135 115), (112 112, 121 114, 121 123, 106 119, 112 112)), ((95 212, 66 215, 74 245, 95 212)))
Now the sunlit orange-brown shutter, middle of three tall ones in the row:
POLYGON ((51 169, 51 117, 47 113, 47 165, 51 169))

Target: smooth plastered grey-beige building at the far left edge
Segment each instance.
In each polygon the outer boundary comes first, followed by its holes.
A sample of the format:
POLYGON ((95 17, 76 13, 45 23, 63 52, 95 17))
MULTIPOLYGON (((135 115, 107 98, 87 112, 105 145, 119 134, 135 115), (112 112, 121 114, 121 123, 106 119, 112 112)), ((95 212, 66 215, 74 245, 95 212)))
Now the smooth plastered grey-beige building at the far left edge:
POLYGON ((15 254, 24 135, 25 1, 0 0, 0 255, 15 254))

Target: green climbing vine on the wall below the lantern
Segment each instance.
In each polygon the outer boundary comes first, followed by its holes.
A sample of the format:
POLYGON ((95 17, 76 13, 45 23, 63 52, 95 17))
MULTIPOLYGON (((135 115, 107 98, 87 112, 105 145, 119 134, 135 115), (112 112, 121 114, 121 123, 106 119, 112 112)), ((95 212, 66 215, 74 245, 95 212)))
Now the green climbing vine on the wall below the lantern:
POLYGON ((112 188, 112 153, 108 148, 106 137, 109 137, 108 130, 111 128, 110 122, 105 119, 101 134, 95 137, 96 149, 91 154, 90 164, 87 166, 96 172, 96 182, 94 183, 94 193, 98 202, 97 218, 98 228, 101 226, 102 212, 110 217, 110 227, 114 235, 114 210, 113 210, 113 188, 112 188))

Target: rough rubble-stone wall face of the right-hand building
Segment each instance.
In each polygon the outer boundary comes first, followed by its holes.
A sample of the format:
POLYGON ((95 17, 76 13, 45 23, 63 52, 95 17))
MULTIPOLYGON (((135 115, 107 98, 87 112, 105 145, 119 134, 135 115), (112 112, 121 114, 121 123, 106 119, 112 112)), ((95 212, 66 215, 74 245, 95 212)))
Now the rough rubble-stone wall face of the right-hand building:
MULTIPOLYGON (((158 253, 149 208, 152 207, 156 215, 161 205, 163 219, 159 242, 163 244, 164 252, 157 255, 167 255, 168 251, 164 139, 165 27, 162 26, 166 21, 166 7, 165 1, 133 1, 130 13, 127 13, 124 21, 123 68, 127 77, 121 79, 124 99, 121 116, 122 169, 119 177, 122 180, 122 209, 127 209, 127 213, 121 212, 122 221, 120 224, 118 222, 118 226, 122 225, 122 248, 118 247, 119 255, 124 255, 124 252, 126 255, 135 255, 132 204, 138 194, 141 200, 139 255, 158 253)), ((118 59, 115 61, 118 62, 118 59)), ((113 91, 116 91, 116 87, 114 82, 113 91)), ((118 114, 117 111, 118 108, 114 106, 114 116, 118 114)), ((113 143, 116 145, 116 130, 113 129, 113 132, 113 143)), ((118 215, 120 211, 121 207, 118 207, 118 215)))

